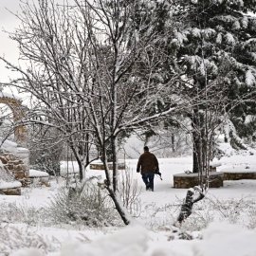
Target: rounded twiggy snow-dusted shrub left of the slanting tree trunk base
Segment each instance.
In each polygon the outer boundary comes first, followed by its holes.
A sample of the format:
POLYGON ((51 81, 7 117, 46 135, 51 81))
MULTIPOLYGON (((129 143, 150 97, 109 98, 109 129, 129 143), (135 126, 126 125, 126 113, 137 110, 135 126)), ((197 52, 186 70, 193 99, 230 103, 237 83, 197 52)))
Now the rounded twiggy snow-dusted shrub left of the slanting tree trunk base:
POLYGON ((107 194, 91 182, 86 182, 82 191, 72 187, 61 189, 52 198, 47 211, 54 223, 89 227, 111 226, 118 219, 107 194))

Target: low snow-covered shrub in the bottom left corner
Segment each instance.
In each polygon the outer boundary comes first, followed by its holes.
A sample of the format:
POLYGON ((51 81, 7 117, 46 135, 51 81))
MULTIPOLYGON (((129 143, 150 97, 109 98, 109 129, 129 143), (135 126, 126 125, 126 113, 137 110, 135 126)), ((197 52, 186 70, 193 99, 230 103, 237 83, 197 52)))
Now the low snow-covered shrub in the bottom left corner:
POLYGON ((9 255, 19 248, 39 248, 44 254, 60 248, 60 242, 54 237, 38 234, 37 230, 27 226, 9 224, 0 225, 1 255, 9 255))

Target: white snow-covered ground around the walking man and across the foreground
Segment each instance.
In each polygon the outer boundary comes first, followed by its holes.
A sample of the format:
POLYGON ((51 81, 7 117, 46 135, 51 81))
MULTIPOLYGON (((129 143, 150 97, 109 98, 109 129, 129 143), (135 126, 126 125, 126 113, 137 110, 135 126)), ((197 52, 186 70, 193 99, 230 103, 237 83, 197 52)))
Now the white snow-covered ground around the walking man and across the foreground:
MULTIPOLYGON (((237 155, 229 150, 217 171, 225 169, 256 171, 256 151, 237 155)), ((173 174, 192 170, 192 157, 159 158, 163 180, 155 177, 155 192, 146 192, 140 174, 136 173, 137 159, 126 160, 141 192, 138 195, 137 217, 128 227, 85 228, 76 225, 43 227, 29 222, 24 211, 20 222, 9 223, 9 216, 1 219, 1 247, 8 247, 12 236, 17 240, 9 255, 52 256, 255 256, 256 255, 256 180, 225 181, 224 187, 210 189, 206 198, 198 202, 192 215, 181 228, 174 227, 187 190, 173 188, 173 174), (22 231, 21 231, 22 230, 22 231), (34 240, 33 243, 26 243, 34 240), (184 239, 184 238, 187 239, 184 239), (183 238, 183 239, 181 239, 183 238), (41 241, 39 243, 39 240, 41 241), (19 246, 19 241, 20 245, 19 246), (26 245, 29 245, 26 247, 26 245)), ((69 172, 77 167, 69 166, 69 172)), ((62 164, 62 172, 66 164, 62 164)), ((119 171, 123 172, 123 171, 119 171)), ((88 170, 87 176, 103 177, 102 171, 88 170)), ((121 174, 120 174, 121 175, 121 174)), ((21 196, 0 195, 0 207, 16 206, 34 209, 46 207, 61 182, 51 180, 51 187, 23 189, 21 196)), ((3 211, 3 210, 2 210, 3 211)), ((1 254, 0 255, 8 255, 1 254)))

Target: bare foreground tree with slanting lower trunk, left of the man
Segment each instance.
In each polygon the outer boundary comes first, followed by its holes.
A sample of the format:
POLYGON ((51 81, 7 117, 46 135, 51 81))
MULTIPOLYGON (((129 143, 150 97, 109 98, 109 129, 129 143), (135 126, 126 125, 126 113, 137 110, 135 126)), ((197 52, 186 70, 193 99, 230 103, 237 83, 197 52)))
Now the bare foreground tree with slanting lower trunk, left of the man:
POLYGON ((105 187, 127 224, 129 221, 117 200, 120 138, 173 112, 171 101, 165 109, 150 111, 157 99, 169 95, 171 88, 154 82, 152 71, 161 62, 156 47, 148 50, 155 39, 155 33, 151 31, 155 16, 151 16, 152 22, 140 20, 137 26, 137 1, 76 3, 83 13, 82 23, 86 25, 90 42, 91 79, 86 83, 88 96, 83 105, 100 145, 105 187), (111 172, 107 164, 110 156, 113 162, 111 172))

